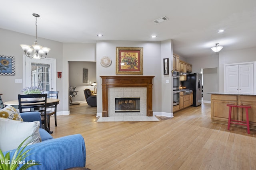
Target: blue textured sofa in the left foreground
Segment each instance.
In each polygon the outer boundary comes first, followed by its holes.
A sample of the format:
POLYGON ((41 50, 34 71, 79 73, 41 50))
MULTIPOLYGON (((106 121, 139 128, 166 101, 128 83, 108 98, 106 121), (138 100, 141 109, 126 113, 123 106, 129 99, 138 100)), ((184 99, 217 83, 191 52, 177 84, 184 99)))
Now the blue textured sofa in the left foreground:
MULTIPOLYGON (((38 111, 24 112, 20 115, 23 121, 41 122, 38 111)), ((29 170, 64 170, 73 167, 85 167, 86 150, 82 135, 76 134, 53 139, 47 131, 41 128, 41 123, 39 133, 42 142, 26 147, 25 150, 31 150, 25 161, 34 160, 40 162, 41 165, 32 166, 29 170)), ((15 150, 6 151, 4 155, 10 152, 12 158, 15 150)))

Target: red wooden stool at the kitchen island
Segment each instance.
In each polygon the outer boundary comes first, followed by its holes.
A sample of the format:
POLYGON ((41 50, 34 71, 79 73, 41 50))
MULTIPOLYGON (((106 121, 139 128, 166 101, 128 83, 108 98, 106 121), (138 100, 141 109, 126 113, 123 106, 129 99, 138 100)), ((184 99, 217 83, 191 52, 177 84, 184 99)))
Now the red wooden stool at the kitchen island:
POLYGON ((248 109, 249 109, 249 108, 252 108, 252 107, 251 107, 251 106, 232 105, 232 104, 227 104, 227 106, 229 106, 229 113, 228 113, 228 130, 230 129, 230 123, 236 124, 236 125, 244 125, 244 126, 247 126, 247 133, 250 134, 248 109), (231 119, 232 107, 241 107, 241 108, 245 108, 245 110, 246 110, 246 121, 239 121, 239 120, 231 119))

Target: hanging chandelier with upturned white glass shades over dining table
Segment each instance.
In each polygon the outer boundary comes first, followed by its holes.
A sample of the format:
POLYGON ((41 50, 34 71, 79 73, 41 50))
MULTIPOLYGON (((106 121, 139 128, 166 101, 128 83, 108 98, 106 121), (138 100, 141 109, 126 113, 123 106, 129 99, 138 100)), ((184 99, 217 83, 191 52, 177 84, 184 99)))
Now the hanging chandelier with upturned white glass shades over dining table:
MULTIPOLYGON (((32 14, 32 15, 34 17, 36 17, 36 19, 37 19, 37 17, 40 17, 38 14, 32 14)), ((37 26, 37 23, 36 23, 36 26, 37 26)), ((50 51, 50 48, 42 47, 41 45, 38 45, 38 42, 37 42, 37 30, 36 30, 36 41, 32 45, 33 48, 30 45, 25 45, 25 44, 20 44, 20 47, 25 52, 25 55, 27 57, 29 57, 30 59, 38 58, 38 57, 39 57, 39 59, 44 59, 44 58, 46 58, 46 55, 50 51), (34 52, 32 53, 32 51, 34 51, 34 52)))

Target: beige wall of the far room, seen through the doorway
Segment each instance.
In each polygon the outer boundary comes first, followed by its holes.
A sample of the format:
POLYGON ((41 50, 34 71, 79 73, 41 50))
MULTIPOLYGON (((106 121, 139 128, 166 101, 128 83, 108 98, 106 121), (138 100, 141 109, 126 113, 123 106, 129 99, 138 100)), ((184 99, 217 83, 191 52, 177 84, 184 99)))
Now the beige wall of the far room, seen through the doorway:
POLYGON ((70 61, 69 62, 69 86, 76 87, 77 96, 72 98, 73 102, 83 101, 84 89, 88 88, 91 91, 94 90, 94 86, 91 86, 93 82, 96 82, 96 62, 92 61, 70 61), (83 68, 88 69, 88 83, 83 82, 83 68))

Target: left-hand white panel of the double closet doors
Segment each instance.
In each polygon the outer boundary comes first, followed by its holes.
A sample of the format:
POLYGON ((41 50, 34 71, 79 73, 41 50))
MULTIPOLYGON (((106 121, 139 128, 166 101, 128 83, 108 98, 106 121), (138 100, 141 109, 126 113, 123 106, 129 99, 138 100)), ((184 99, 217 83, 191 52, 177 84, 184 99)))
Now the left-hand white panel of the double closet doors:
POLYGON ((239 92, 238 65, 226 66, 226 92, 239 92))

